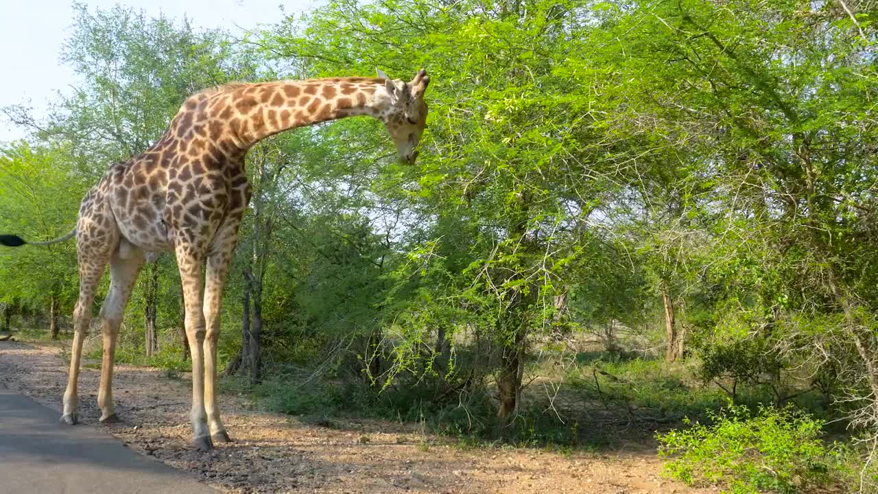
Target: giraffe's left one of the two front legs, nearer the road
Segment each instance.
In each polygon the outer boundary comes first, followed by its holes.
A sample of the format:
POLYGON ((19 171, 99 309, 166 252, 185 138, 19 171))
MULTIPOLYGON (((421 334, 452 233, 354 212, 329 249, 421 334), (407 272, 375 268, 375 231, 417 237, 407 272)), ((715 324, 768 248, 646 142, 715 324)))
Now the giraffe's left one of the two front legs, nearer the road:
POLYGON ((178 243, 176 264, 183 282, 183 298, 186 307, 186 336, 192 359, 192 446, 202 451, 213 448, 205 412, 205 316, 201 305, 201 255, 191 245, 178 243))

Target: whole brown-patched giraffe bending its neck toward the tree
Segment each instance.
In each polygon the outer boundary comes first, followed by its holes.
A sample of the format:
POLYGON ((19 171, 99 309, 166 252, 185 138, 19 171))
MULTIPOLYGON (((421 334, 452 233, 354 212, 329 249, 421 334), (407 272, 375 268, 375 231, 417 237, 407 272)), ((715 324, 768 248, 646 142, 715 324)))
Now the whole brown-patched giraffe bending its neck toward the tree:
MULTIPOLYGON (((146 258, 174 251, 184 288, 185 329, 192 363, 193 447, 227 442, 216 400, 219 302, 252 188, 244 156, 256 142, 296 127, 366 115, 385 124, 399 161, 414 163, 427 120, 421 69, 410 82, 378 77, 226 84, 186 98, 162 137, 126 163, 113 164, 85 194, 76 227, 45 245, 76 237, 79 299, 74 309, 67 389, 61 422, 74 425, 83 338, 98 283, 110 265, 110 288, 99 312, 103 360, 100 422, 118 421, 112 399, 119 325, 146 258), (202 289, 202 264, 205 282, 202 289)), ((0 236, 0 244, 27 244, 0 236)))

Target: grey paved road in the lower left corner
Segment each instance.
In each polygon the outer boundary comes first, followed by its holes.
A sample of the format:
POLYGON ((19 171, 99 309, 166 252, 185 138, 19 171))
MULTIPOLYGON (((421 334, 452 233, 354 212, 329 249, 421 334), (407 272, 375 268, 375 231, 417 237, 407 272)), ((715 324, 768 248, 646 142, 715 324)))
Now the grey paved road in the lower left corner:
POLYGON ((218 494, 0 383, 0 494, 218 494))

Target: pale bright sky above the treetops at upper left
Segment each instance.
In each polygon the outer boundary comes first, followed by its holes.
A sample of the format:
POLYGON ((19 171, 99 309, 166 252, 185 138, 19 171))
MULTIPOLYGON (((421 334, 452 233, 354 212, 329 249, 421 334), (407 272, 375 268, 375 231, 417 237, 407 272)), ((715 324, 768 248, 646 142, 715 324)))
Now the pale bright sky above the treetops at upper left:
MULTIPOLYGON (((317 0, 81 0, 90 11, 115 4, 132 6, 148 16, 188 17, 193 25, 222 27, 233 33, 274 24, 284 15, 318 5, 317 0), (283 5, 283 11, 281 10, 283 5)), ((76 83, 73 72, 59 62, 61 45, 73 23, 73 0, 0 0, 0 107, 32 105, 45 114, 57 91, 76 83)), ((25 137, 25 132, 0 116, 0 142, 25 137)))

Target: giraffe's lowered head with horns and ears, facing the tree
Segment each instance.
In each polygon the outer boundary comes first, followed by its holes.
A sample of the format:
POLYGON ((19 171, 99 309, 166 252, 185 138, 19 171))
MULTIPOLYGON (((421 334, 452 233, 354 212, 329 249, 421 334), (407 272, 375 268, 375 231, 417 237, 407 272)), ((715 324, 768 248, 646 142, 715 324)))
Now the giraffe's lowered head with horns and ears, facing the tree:
POLYGON ((427 71, 421 69, 410 83, 392 80, 378 69, 378 77, 384 79, 385 89, 390 96, 390 107, 383 115, 385 127, 396 144, 399 160, 413 164, 418 157, 418 143, 427 124, 427 104, 424 91, 430 84, 427 71))

